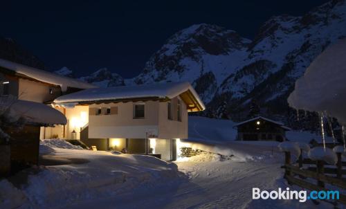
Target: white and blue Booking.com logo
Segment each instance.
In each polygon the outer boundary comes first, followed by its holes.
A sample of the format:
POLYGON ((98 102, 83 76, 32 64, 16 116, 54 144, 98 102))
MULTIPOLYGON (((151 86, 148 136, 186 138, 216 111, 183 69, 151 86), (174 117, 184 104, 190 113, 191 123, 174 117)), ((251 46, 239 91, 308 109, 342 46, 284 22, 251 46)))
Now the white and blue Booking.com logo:
POLYGON ((337 190, 311 190, 309 194, 305 190, 267 190, 261 191, 260 188, 253 188, 253 199, 298 199, 300 202, 305 202, 308 199, 339 199, 340 193, 337 190))

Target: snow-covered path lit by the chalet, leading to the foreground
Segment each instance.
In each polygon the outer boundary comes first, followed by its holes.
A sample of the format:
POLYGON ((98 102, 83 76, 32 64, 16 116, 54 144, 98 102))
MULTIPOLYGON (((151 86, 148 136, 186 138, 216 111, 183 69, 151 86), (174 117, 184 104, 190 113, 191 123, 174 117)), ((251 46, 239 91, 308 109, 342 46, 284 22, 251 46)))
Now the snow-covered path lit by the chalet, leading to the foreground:
MULTIPOLYGON (((261 147, 258 152, 261 152, 261 147)), ((176 161, 187 178, 172 183, 140 187, 118 196, 89 199, 69 208, 332 208, 330 204, 314 205, 311 201, 252 200, 252 188, 277 190, 288 185, 282 179, 281 153, 265 154, 259 161, 222 160, 204 153, 176 161), (270 162, 270 163, 269 163, 270 162)), ((295 188, 300 190, 300 188, 295 188)))

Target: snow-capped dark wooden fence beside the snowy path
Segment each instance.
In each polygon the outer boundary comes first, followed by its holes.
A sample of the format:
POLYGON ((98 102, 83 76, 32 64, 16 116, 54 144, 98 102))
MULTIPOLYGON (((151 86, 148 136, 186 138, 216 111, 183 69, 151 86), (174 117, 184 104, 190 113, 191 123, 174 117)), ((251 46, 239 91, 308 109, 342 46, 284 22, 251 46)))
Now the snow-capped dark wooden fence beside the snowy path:
MULTIPOLYGON (((279 147, 285 155, 282 167, 285 170, 284 179, 289 184, 307 190, 326 190, 325 184, 329 184, 340 188, 340 191, 346 190, 346 162, 342 161, 342 156, 346 156, 344 147, 314 147, 310 150, 307 145, 290 142, 280 143, 279 147), (304 153, 307 153, 309 158, 303 158, 304 153), (298 160, 291 161, 291 158, 298 160), (314 181, 317 181, 317 184, 311 183, 314 181)), ((336 201, 346 204, 346 194, 340 194, 340 199, 336 201)))

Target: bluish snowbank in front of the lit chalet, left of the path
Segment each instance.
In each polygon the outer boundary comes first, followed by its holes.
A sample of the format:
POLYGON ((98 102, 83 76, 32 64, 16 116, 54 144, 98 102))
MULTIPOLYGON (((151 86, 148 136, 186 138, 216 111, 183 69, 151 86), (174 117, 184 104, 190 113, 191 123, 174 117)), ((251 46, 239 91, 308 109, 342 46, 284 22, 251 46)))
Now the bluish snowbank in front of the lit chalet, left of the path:
MULTIPOLYGON (((46 143, 52 144, 55 146, 46 143)), ((37 174, 29 174, 19 189, 7 180, 0 181, 1 191, 6 188, 0 192, 0 208, 66 208, 77 201, 113 197, 138 186, 148 189, 150 185, 168 183, 179 176, 174 163, 152 156, 51 149, 54 152, 48 156, 51 160, 56 158, 58 165, 36 167, 37 174), (61 159, 71 164, 60 165, 61 159)))

